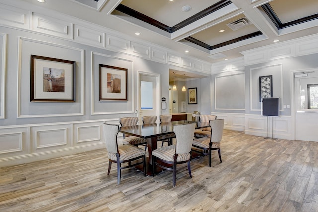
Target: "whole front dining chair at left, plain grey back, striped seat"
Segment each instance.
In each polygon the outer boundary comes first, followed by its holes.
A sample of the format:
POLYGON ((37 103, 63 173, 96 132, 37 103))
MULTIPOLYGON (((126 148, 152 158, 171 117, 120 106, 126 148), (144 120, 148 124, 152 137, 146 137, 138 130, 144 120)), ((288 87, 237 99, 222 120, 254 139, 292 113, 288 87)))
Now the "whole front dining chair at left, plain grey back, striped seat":
POLYGON ((113 124, 103 124, 104 138, 106 141, 106 148, 108 151, 108 172, 110 173, 112 162, 117 163, 117 184, 120 184, 121 170, 143 164, 144 176, 146 176, 146 154, 141 148, 133 145, 120 145, 117 144, 117 134, 119 126, 113 124), (141 162, 132 161, 142 159, 141 162), (122 163, 127 163, 127 166, 122 166, 122 163))

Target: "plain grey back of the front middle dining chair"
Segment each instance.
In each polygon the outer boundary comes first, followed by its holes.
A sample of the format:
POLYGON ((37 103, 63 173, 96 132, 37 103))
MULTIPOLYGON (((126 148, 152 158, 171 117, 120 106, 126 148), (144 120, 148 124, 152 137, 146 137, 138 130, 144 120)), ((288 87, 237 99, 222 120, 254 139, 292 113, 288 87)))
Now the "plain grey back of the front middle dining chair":
POLYGON ((173 132, 176 137, 176 154, 186 154, 191 151, 195 123, 174 125, 173 132))

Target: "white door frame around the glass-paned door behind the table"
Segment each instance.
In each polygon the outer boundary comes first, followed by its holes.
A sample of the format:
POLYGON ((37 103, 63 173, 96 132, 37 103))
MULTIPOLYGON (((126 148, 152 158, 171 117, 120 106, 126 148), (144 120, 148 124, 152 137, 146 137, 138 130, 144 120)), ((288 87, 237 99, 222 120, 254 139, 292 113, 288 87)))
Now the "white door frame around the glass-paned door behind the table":
MULTIPOLYGON (((156 98, 156 116, 157 120, 159 119, 160 111, 161 111, 161 75, 156 73, 149 73, 144 71, 137 71, 137 108, 138 113, 137 116, 140 117, 140 75, 152 76, 156 78, 156 90, 155 90, 155 98, 156 98)), ((141 122, 141 120, 140 120, 141 122)), ((139 123, 142 124, 142 123, 139 123)))

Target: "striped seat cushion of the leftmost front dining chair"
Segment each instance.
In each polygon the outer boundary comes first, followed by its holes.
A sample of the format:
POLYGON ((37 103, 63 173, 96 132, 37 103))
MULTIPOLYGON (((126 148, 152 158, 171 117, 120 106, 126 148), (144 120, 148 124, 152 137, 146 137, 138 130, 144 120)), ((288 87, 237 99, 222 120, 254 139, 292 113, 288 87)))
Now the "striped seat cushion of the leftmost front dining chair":
MULTIPOLYGON (((145 151, 141 148, 132 145, 118 146, 120 154, 119 160, 130 160, 142 155, 145 155, 145 151)), ((117 160, 116 153, 108 153, 108 158, 111 160, 117 160)))

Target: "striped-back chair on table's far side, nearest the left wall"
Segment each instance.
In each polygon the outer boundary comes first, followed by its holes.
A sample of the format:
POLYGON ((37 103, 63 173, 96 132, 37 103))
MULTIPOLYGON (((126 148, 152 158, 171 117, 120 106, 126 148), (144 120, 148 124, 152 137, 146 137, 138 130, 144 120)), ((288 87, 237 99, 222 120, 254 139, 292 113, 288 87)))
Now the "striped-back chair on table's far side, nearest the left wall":
MULTIPOLYGON (((122 127, 127 127, 127 126, 135 126, 137 125, 138 122, 138 117, 123 117, 119 119, 119 123, 122 127)), ((143 145, 145 146, 145 151, 147 148, 147 140, 137 137, 137 136, 132 136, 132 135, 126 135, 123 134, 123 144, 125 145, 134 145, 134 146, 139 146, 143 145)))

